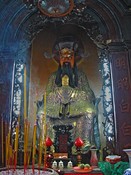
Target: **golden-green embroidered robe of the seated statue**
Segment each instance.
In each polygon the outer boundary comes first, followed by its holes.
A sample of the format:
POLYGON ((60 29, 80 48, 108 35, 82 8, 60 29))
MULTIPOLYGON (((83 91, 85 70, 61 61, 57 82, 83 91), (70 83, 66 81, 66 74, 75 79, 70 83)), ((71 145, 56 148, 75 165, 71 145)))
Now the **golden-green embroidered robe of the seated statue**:
MULTIPOLYGON (((73 139, 81 137, 86 143, 93 144, 93 118, 97 115, 95 95, 86 75, 78 71, 78 85, 58 87, 55 83, 57 72, 49 78, 46 88, 47 134, 54 138, 54 125, 73 125, 73 139)), ((43 101, 43 100, 42 100, 43 101)), ((43 113, 43 104, 38 103, 38 116, 43 113)), ((42 127, 42 126, 41 126, 42 127)))

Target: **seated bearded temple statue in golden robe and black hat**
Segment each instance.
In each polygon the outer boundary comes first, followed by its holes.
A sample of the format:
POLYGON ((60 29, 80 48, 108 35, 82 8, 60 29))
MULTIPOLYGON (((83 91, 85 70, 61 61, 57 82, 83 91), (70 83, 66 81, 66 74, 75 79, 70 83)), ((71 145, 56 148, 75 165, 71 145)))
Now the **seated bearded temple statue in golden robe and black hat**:
MULTIPOLYGON (((81 137, 90 146, 94 144, 93 123, 97 106, 85 73, 77 69, 75 54, 78 47, 78 43, 73 41, 59 41, 55 46, 59 48, 59 66, 46 87, 47 135, 54 139, 53 126, 72 125, 73 139, 81 137)), ((40 126, 43 100, 38 101, 37 107, 40 126)))

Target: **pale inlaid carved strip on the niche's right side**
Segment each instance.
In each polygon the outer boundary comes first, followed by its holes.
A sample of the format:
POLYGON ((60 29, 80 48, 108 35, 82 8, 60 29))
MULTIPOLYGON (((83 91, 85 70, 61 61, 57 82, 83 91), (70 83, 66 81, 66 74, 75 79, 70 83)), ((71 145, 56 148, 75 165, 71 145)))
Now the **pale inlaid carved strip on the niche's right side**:
POLYGON ((110 63, 108 59, 108 50, 100 50, 99 55, 101 61, 101 73, 103 78, 103 110, 105 122, 104 125, 104 135, 108 142, 114 142, 114 109, 113 109, 113 100, 112 100, 112 82, 111 82, 111 70, 110 63))

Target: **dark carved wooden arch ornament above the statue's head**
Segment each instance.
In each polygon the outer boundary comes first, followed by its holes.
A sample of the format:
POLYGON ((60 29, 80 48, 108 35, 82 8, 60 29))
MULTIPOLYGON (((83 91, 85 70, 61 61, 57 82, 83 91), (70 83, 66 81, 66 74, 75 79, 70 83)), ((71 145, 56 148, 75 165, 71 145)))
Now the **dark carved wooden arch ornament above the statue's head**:
POLYGON ((85 3, 76 4, 75 8, 70 14, 61 18, 50 18, 41 15, 39 11, 35 13, 30 19, 30 24, 27 25, 25 36, 32 41, 43 28, 49 24, 60 27, 63 24, 75 24, 85 29, 87 35, 94 40, 99 46, 104 45, 103 37, 100 32, 100 26, 93 16, 88 12, 85 3))

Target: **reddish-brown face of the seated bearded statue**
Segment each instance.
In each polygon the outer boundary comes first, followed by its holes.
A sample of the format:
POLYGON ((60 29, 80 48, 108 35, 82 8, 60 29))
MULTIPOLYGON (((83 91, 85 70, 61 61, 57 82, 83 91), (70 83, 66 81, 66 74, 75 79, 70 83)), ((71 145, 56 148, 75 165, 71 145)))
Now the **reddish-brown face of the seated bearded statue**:
POLYGON ((64 48, 60 51, 60 65, 71 64, 74 67, 74 51, 68 48, 64 48))

